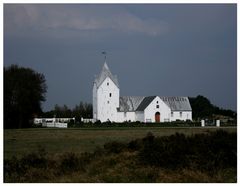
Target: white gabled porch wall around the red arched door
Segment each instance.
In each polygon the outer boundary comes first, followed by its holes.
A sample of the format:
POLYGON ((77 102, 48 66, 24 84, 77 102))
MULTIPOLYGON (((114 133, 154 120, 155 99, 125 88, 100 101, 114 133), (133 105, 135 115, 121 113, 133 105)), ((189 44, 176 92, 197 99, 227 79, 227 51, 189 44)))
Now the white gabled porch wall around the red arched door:
POLYGON ((158 96, 144 110, 144 122, 155 122, 156 112, 160 113, 160 122, 170 121, 171 110, 158 96))

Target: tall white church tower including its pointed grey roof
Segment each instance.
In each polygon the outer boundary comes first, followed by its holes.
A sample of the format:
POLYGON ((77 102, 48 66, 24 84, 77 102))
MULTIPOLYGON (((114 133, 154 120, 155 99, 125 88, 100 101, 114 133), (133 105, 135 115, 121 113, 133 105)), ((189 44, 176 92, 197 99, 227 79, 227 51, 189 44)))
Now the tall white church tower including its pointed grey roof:
POLYGON ((105 61, 93 82, 93 119, 101 122, 118 120, 119 92, 117 77, 112 75, 105 61))

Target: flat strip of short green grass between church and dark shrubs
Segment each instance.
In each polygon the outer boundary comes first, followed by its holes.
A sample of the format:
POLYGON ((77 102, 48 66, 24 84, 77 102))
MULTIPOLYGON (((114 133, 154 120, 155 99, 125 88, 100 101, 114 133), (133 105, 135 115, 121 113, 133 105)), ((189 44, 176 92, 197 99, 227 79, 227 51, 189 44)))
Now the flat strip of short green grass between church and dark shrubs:
MULTIPOLYGON (((219 128, 91 128, 91 129, 8 129, 4 130, 4 159, 12 156, 20 157, 30 152, 36 152, 39 146, 48 154, 62 154, 65 152, 93 152, 109 141, 129 142, 136 138, 143 138, 148 132, 154 136, 168 136, 178 133, 193 135, 208 133, 219 128)), ((228 132, 236 132, 237 128, 223 128, 228 132)))

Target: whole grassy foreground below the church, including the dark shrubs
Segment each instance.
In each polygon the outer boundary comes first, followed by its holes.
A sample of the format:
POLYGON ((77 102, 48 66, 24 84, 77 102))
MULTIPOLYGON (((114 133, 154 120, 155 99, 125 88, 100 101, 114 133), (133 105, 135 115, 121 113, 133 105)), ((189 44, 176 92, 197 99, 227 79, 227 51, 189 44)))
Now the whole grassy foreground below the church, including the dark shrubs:
POLYGON ((235 183, 236 128, 4 130, 4 182, 235 183))

